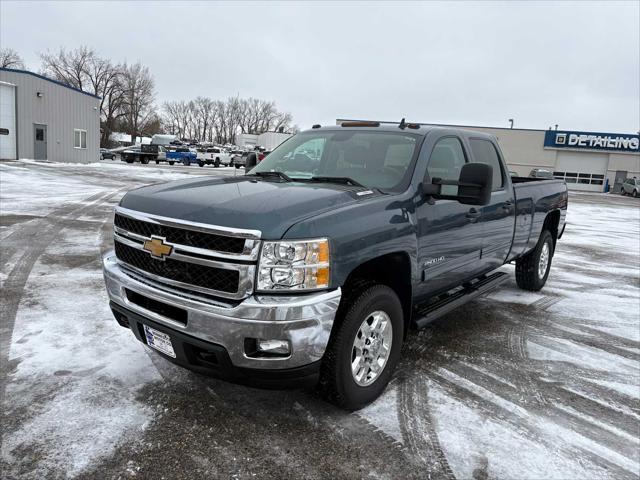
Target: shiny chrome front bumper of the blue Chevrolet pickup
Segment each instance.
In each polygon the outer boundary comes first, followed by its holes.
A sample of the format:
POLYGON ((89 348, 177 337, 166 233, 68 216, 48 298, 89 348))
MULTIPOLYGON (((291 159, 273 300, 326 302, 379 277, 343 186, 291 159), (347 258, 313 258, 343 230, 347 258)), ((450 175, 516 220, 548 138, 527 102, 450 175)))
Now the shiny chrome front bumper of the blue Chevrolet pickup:
POLYGON ((102 266, 112 302, 186 335, 223 346, 236 367, 294 368, 320 360, 340 304, 338 288, 296 296, 253 295, 235 306, 217 305, 141 281, 118 264, 113 252, 103 257, 102 266), (131 303, 125 288, 186 310, 186 325, 131 303), (286 358, 248 357, 244 352, 245 338, 288 340, 291 355, 286 358))

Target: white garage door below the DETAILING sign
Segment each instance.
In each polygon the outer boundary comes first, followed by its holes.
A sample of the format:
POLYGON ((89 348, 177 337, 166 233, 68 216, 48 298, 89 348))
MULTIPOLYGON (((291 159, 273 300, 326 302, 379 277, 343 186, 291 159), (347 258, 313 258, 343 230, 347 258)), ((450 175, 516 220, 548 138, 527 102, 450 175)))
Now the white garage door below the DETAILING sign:
POLYGON ((558 152, 556 178, 567 182, 570 190, 602 192, 609 155, 583 152, 558 152))

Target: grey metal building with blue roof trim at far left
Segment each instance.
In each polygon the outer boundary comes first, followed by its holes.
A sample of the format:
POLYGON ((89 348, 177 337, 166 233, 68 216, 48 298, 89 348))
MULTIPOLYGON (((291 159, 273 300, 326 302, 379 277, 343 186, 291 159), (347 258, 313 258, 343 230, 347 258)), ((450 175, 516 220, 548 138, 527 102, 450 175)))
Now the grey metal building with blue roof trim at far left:
POLYGON ((94 162, 100 98, 33 72, 0 68, 0 159, 94 162))

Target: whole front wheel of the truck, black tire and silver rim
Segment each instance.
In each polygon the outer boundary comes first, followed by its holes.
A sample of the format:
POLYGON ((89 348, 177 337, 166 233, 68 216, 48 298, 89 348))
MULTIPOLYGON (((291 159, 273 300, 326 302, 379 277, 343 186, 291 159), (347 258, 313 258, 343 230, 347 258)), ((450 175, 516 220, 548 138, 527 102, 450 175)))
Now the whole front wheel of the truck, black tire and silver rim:
POLYGON ((374 285, 341 306, 320 370, 320 389, 332 403, 358 410, 384 391, 400 359, 402 305, 385 285, 374 285))

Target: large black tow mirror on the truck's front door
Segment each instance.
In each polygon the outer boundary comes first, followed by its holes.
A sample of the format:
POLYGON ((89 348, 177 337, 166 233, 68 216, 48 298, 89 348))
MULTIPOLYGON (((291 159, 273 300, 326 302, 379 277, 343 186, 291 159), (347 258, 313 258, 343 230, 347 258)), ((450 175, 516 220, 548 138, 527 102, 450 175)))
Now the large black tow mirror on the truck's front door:
POLYGON ((422 184, 422 194, 433 198, 456 200, 464 205, 488 205, 491 201, 493 167, 484 163, 465 163, 458 180, 433 178, 422 184), (457 195, 442 195, 442 185, 458 187, 457 195))

